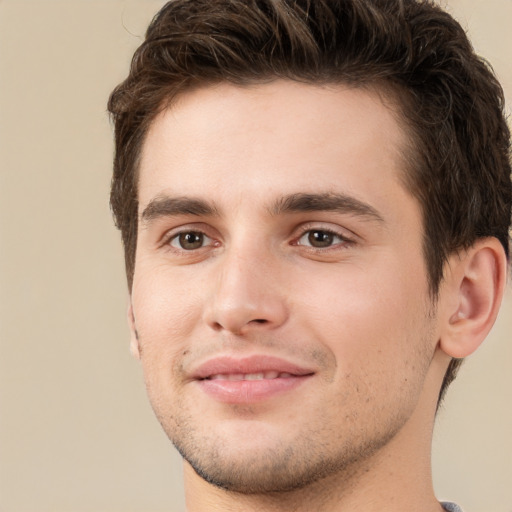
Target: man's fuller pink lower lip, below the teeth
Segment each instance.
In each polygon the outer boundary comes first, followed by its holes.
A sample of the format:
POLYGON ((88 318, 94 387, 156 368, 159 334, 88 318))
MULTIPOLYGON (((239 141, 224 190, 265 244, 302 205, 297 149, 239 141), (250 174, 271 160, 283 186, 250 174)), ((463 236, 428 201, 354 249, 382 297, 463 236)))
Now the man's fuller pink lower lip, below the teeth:
POLYGON ((312 375, 262 379, 262 380, 200 380, 201 389, 219 402, 248 404, 268 400, 274 396, 296 389, 312 375))

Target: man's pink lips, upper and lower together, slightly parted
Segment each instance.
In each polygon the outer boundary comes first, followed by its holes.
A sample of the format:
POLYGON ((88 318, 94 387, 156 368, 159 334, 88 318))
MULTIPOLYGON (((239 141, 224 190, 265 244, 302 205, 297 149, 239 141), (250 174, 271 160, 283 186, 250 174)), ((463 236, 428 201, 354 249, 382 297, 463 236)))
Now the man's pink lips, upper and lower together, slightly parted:
POLYGON ((314 373, 311 368, 274 356, 224 356, 201 364, 192 373, 192 379, 214 400, 230 404, 249 404, 296 389, 314 373), (278 375, 258 380, 239 380, 236 377, 233 380, 234 376, 268 373, 278 375))

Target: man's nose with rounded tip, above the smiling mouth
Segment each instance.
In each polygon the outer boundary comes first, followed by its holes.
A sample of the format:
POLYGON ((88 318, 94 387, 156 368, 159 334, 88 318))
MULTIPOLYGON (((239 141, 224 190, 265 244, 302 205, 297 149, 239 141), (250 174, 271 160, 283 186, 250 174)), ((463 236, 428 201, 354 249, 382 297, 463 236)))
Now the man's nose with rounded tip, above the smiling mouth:
POLYGON ((216 265, 205 321, 216 331, 237 335, 272 330, 288 318, 278 265, 268 255, 225 255, 216 265))

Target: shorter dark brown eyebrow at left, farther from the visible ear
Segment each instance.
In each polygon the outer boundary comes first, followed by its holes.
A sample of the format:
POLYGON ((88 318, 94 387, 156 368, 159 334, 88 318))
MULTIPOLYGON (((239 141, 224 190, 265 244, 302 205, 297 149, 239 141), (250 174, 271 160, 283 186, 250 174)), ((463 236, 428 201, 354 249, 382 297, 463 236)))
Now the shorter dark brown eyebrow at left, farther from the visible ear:
POLYGON ((193 197, 169 197, 157 196, 152 199, 140 218, 147 224, 161 217, 173 217, 177 215, 218 216, 215 206, 202 199, 193 197))

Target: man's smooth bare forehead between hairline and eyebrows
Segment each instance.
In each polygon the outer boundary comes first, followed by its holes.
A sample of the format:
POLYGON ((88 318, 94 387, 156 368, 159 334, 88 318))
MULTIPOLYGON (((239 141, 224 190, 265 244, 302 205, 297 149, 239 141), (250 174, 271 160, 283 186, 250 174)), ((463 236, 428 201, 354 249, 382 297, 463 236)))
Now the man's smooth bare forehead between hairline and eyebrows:
POLYGON ((387 99, 290 81, 183 93, 146 136, 140 205, 168 192, 242 198, 257 190, 275 200, 318 187, 357 195, 361 181, 375 192, 400 185, 407 138, 387 99))

